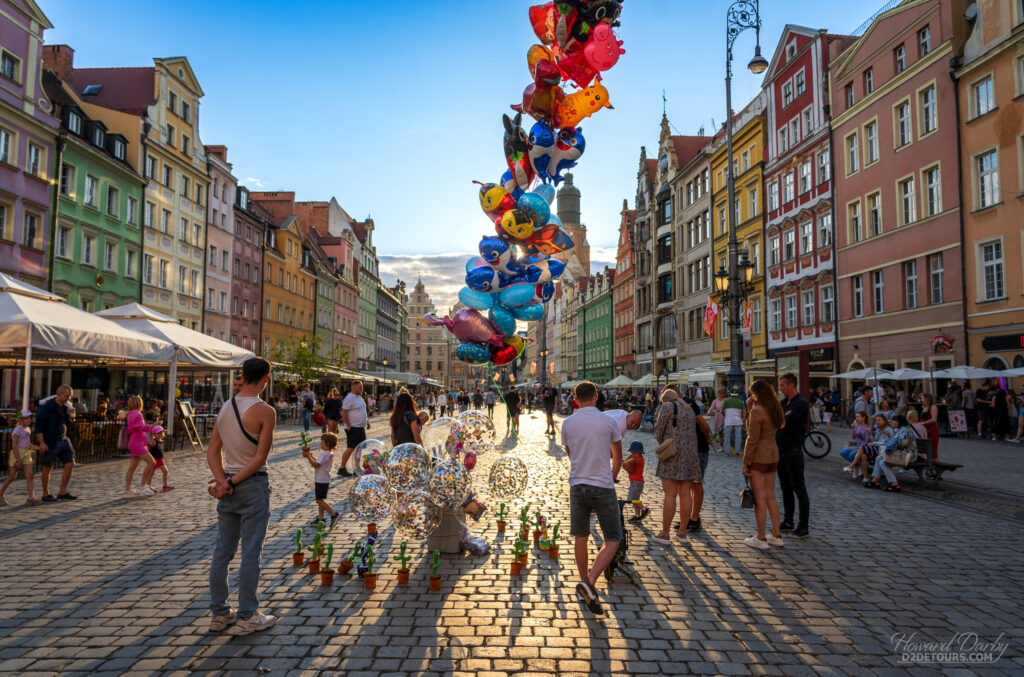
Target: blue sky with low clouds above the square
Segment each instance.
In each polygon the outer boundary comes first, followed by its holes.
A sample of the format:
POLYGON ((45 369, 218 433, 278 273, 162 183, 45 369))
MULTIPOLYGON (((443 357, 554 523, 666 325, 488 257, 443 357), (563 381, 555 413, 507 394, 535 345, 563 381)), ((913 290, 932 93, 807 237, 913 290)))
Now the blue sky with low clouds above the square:
MULTIPOLYGON (((187 56, 205 92, 200 137, 228 147, 240 182, 297 200, 336 197, 353 217, 373 216, 382 278, 412 286, 422 274, 439 307, 454 302, 466 259, 493 231, 472 181, 505 171, 501 118, 530 82, 536 1, 39 4, 54 26, 45 41, 71 45, 76 67, 187 56)), ((771 59, 786 24, 848 33, 882 4, 762 0, 762 51, 771 59)), ((592 270, 613 264, 640 147, 656 152, 663 91, 673 133, 711 134, 724 121, 728 6, 624 3, 626 53, 604 77, 614 109, 581 124, 587 146, 572 170, 592 270)), ((761 86, 745 68, 754 46, 753 31, 736 41, 735 110, 761 86)))

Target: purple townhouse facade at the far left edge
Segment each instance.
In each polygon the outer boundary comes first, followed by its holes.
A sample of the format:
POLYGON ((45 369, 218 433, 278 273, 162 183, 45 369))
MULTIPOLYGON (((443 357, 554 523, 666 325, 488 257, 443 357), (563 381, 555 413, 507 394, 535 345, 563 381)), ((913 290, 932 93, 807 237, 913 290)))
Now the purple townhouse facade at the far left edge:
POLYGON ((33 0, 0 2, 0 271, 47 285, 59 120, 43 89, 43 33, 33 0))

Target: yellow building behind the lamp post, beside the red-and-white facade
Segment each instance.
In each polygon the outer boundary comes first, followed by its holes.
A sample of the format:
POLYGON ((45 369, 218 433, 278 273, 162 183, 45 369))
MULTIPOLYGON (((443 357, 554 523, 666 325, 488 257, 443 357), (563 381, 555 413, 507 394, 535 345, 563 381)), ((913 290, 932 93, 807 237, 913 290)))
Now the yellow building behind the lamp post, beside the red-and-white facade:
MULTIPOLYGON (((746 108, 733 118, 732 158, 735 176, 735 221, 736 240, 739 252, 745 253, 754 263, 752 283, 754 291, 748 296, 743 305, 752 308, 752 327, 744 341, 743 362, 766 359, 768 356, 766 333, 763 323, 765 301, 764 278, 764 147, 766 142, 765 97, 759 94, 746 108)), ((719 133, 712 144, 712 221, 714 224, 714 260, 715 271, 720 266, 729 269, 729 223, 726 218, 728 203, 727 189, 727 150, 725 133, 719 133)), ((712 359, 716 363, 729 359, 729 326, 728 308, 724 303, 718 323, 715 327, 714 352, 712 359)), ((754 371, 744 365, 744 371, 754 371)))

